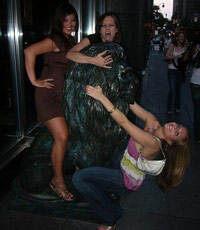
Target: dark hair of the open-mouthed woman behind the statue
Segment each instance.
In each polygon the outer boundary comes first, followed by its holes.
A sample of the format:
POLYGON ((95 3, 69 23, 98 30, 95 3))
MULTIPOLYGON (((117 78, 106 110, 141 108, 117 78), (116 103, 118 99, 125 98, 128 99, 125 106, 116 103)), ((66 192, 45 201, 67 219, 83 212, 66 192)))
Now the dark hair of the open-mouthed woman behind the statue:
POLYGON ((101 27, 102 27, 102 24, 103 24, 103 20, 108 16, 110 16, 110 17, 112 17, 114 19, 116 28, 118 30, 118 32, 116 33, 113 41, 117 42, 117 43, 121 43, 122 42, 122 35, 121 35, 120 21, 119 21, 118 16, 112 11, 108 11, 108 12, 102 14, 99 17, 99 19, 97 21, 97 25, 96 25, 96 34, 100 34, 100 30, 101 30, 101 27))

